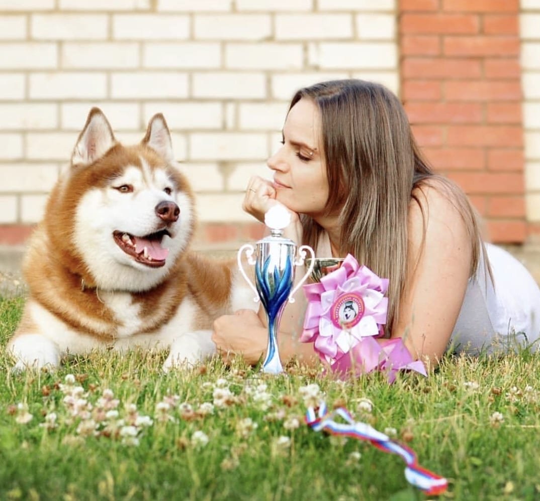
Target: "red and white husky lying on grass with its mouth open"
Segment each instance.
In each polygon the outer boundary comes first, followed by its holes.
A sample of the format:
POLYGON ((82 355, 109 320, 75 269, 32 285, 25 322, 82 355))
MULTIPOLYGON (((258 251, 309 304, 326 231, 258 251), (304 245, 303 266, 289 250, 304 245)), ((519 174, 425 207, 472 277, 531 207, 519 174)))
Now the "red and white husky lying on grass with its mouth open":
POLYGON ((93 108, 24 259, 16 368, 97 347, 170 348, 165 369, 213 353, 212 321, 254 307, 253 295, 234 267, 187 252, 193 226, 163 115, 128 147, 93 108))

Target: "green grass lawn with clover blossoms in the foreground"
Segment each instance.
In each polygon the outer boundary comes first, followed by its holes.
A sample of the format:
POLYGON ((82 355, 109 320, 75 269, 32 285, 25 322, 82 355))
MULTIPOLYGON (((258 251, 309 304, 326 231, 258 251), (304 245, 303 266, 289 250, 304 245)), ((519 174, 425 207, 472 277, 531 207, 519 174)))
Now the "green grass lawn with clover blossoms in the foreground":
POLYGON ((22 306, 21 297, 0 298, 0 499, 426 499, 407 484, 399 456, 303 423, 302 388, 312 383, 329 407, 344 405, 381 431, 394 428, 421 465, 449 479, 441 498, 540 498, 538 354, 448 357, 429 378, 403 374, 392 386, 382 374, 342 384, 296 366, 288 376, 266 376, 240 360, 163 374, 165 354, 140 351, 93 353, 55 373, 11 374, 5 345, 22 306), (95 421, 105 389, 119 400, 118 418, 101 421, 97 435, 84 435, 86 416, 72 417, 64 403, 68 374, 83 387, 95 421), (199 412, 216 403, 217 387, 230 390, 226 405, 199 412), (167 397, 173 405, 159 410, 167 397), (360 399, 373 402, 371 412, 360 399), (130 404, 153 420, 139 427, 138 445, 124 443, 121 424, 112 427, 120 418, 129 424, 130 404), (26 412, 31 420, 18 423, 26 412), (57 427, 49 430, 42 424, 53 412, 57 427))

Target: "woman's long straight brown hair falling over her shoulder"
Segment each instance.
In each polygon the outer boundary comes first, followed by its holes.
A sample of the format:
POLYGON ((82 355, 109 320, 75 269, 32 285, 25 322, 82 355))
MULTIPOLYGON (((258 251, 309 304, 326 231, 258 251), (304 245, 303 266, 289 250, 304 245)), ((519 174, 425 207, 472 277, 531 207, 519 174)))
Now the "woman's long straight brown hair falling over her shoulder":
MULTIPOLYGON (((389 278, 389 335, 417 265, 407 262, 411 199, 422 210, 425 231, 422 186, 429 182, 448 196, 470 236, 471 275, 483 250, 476 211, 455 183, 435 174, 422 158, 401 102, 386 87, 363 80, 322 82, 296 92, 289 110, 302 98, 315 102, 321 114, 330 194, 326 212, 340 214, 340 251, 389 278)), ((315 248, 322 229, 311 217, 301 218, 303 241, 315 248)))

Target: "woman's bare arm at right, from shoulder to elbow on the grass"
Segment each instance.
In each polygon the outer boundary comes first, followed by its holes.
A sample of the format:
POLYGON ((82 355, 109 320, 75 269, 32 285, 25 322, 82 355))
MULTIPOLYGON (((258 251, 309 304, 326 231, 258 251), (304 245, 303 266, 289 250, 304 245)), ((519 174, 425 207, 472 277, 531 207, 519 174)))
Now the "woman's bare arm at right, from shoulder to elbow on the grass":
POLYGON ((391 337, 402 337, 415 359, 438 363, 446 350, 469 279, 472 243, 444 188, 425 186, 409 210, 409 273, 391 337))

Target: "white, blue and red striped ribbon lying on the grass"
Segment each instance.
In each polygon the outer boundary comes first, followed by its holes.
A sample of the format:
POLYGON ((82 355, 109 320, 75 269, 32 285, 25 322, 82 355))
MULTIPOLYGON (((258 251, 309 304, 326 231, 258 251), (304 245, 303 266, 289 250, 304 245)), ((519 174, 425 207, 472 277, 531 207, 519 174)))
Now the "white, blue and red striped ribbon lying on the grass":
POLYGON ((339 409, 335 409, 333 413, 328 414, 326 403, 321 402, 318 413, 315 413, 313 407, 310 407, 307 410, 306 423, 314 431, 326 431, 326 433, 331 435, 365 440, 375 445, 377 449, 401 456, 403 461, 407 464, 407 467, 405 468, 405 478, 407 481, 411 485, 426 492, 429 496, 437 496, 448 488, 448 481, 446 478, 435 475, 435 473, 422 468, 422 466, 418 464, 418 459, 412 449, 408 448, 406 445, 393 441, 387 435, 377 431, 369 424, 354 421, 347 409, 340 407, 339 409), (340 416, 345 423, 336 422, 334 420, 335 416, 340 416))

